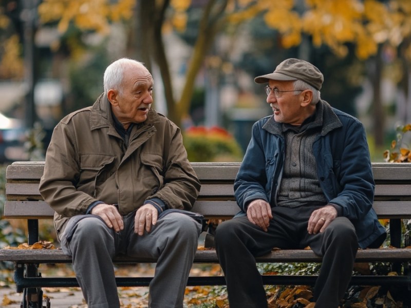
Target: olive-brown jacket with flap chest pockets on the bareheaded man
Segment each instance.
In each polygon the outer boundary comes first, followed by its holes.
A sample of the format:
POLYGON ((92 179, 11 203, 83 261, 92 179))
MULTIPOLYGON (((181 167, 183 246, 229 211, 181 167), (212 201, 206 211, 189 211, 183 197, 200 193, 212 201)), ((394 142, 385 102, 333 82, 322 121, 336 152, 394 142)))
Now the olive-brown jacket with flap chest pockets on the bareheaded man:
POLYGON ((150 109, 126 146, 104 95, 54 128, 40 181, 40 192, 55 211, 58 236, 70 217, 86 214, 95 201, 118 204, 121 215, 152 198, 189 210, 199 189, 174 123, 150 109))

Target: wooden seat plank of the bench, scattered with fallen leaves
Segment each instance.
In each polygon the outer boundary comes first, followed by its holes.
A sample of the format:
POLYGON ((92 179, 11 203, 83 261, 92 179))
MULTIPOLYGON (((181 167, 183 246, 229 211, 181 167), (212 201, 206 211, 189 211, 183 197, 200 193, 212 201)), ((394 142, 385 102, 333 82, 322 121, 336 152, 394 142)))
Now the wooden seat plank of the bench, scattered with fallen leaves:
MULTIPOLYGON (((360 249, 356 262, 398 262, 411 259, 411 248, 378 248, 360 249)), ((322 258, 310 249, 276 249, 269 254, 257 257, 256 262, 321 262, 322 258)), ((0 249, 0 261, 28 263, 67 263, 71 259, 63 254, 61 249, 0 249)), ((154 259, 131 258, 118 256, 114 260, 119 263, 155 262, 154 259)), ((195 255, 196 263, 218 263, 214 249, 198 250, 195 255)))

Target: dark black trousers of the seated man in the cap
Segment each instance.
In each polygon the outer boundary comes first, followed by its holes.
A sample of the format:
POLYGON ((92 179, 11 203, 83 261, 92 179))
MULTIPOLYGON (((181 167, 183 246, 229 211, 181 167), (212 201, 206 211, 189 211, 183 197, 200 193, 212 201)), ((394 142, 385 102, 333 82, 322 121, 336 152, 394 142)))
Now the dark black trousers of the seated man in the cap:
POLYGON ((358 239, 345 217, 333 220, 323 233, 308 234, 308 219, 319 207, 273 207, 273 219, 265 232, 246 216, 221 223, 215 234, 218 259, 227 282, 231 308, 267 307, 267 297, 254 257, 273 247, 305 248, 323 256, 314 286, 317 308, 338 307, 352 276, 358 239))

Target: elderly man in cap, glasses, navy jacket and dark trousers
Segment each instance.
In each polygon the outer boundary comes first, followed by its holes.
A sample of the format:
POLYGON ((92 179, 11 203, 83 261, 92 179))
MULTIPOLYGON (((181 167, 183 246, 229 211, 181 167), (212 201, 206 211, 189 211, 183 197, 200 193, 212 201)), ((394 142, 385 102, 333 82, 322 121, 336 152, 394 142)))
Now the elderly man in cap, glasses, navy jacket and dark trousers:
POLYGON ((359 247, 378 247, 385 229, 372 209, 374 181, 365 130, 321 100, 323 74, 287 59, 268 83, 273 114, 253 125, 234 183, 241 212, 216 229, 231 308, 267 307, 255 256, 310 246, 323 257, 315 307, 338 307, 359 247))

